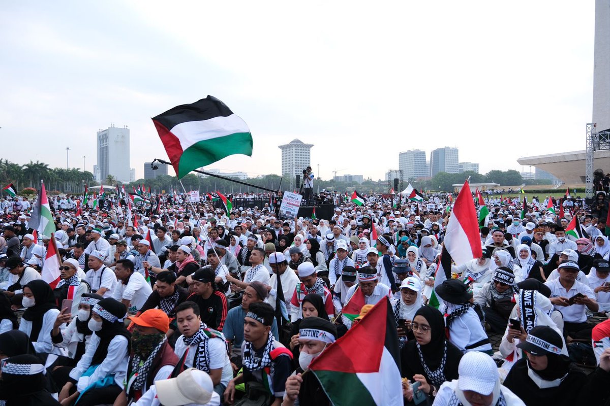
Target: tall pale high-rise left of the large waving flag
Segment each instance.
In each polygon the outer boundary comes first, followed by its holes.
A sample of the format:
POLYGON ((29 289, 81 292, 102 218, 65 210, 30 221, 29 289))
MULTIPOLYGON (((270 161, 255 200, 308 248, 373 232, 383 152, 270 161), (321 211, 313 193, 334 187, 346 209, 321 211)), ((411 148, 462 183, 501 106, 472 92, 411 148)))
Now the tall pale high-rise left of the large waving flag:
POLYGON ((102 182, 108 175, 117 181, 129 182, 129 128, 111 125, 106 130, 99 130, 97 142, 99 177, 102 182))

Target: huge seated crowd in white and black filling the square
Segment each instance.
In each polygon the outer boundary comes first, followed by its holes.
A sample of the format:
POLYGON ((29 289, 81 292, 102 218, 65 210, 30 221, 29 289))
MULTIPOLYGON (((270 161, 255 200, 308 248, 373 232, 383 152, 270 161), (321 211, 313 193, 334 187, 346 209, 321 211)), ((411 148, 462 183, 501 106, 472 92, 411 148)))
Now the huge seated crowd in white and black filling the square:
POLYGON ((0 199, 6 405, 331 404, 310 363, 386 300, 403 404, 610 399, 603 192, 589 206, 490 195, 471 242, 482 256, 442 283, 447 194, 341 198, 329 219, 280 219, 277 201, 150 200, 49 197, 56 231, 41 235, 35 201, 0 199))

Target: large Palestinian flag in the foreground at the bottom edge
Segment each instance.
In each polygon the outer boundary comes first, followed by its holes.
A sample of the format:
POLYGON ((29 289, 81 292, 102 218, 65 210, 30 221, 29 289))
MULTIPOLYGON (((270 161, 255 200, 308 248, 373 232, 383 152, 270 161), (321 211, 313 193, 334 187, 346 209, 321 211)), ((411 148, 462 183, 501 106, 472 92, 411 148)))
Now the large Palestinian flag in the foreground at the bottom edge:
POLYGON ((326 348, 309 370, 335 406, 402 405, 398 332, 389 299, 326 348))

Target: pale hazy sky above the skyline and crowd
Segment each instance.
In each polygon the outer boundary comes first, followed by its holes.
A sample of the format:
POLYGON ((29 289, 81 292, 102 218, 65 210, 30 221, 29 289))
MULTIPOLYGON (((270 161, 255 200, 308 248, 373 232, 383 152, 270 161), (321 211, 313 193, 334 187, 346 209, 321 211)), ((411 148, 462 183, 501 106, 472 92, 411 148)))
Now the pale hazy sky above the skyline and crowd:
MULTIPOLYGON (((383 178, 398 152, 460 161, 584 149, 594 1, 17 1, 0 6, 0 157, 85 169, 95 134, 131 129, 131 167, 167 154, 150 117, 208 94, 249 125, 253 156, 212 168, 281 172, 278 145, 315 144, 323 178, 383 178), (222 3, 222 4, 221 4, 222 3)), ((529 170, 527 167, 523 170, 529 170)), ((170 169, 173 175, 173 170, 170 169)))

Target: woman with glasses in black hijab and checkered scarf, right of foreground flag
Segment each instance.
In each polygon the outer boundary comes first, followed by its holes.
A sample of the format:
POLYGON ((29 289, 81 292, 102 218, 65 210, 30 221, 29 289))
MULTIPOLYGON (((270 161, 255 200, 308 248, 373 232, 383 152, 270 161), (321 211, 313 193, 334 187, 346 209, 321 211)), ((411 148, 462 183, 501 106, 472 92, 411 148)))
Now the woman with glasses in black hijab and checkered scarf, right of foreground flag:
MULTIPOLYGON (((458 379, 462 352, 445 338, 445 320, 439 310, 420 307, 412 320, 415 340, 407 341, 400 351, 402 376, 420 382, 420 390, 431 401, 443 382, 458 379)), ((412 393, 407 401, 411 399, 412 393)))

